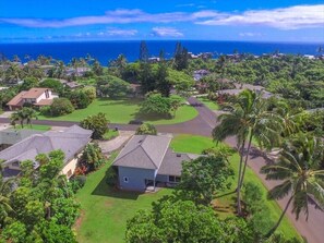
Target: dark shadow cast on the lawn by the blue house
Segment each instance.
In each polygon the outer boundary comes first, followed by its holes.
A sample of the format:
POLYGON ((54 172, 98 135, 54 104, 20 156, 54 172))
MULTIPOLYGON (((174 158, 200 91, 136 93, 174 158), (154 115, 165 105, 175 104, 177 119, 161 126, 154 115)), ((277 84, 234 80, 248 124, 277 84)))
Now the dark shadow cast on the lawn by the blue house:
POLYGON ((143 193, 121 191, 119 189, 112 187, 107 184, 106 177, 103 178, 99 184, 92 192, 92 195, 96 195, 96 196, 107 196, 107 197, 131 199, 131 201, 136 201, 141 194, 143 193))

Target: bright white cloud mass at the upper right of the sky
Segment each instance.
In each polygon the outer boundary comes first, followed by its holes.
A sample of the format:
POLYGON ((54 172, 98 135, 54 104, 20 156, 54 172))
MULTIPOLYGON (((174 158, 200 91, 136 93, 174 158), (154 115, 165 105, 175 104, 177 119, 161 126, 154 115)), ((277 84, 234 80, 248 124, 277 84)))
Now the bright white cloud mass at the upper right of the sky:
POLYGON ((196 22, 203 25, 260 25, 279 29, 321 27, 324 25, 324 4, 296 5, 274 10, 251 10, 196 22))

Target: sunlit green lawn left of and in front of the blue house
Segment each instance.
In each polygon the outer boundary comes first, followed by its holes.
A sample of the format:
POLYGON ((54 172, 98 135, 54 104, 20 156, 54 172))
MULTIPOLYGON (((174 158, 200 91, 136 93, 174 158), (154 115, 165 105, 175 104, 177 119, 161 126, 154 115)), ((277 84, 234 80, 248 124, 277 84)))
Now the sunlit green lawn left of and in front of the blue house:
MULTIPOLYGON (((116 156, 110 158, 110 162, 116 156)), ((85 186, 76 194, 82 205, 82 216, 75 226, 80 243, 124 242, 127 220, 140 209, 151 210, 153 202, 172 192, 164 189, 157 193, 141 194, 112 190, 105 181, 110 162, 89 174, 85 186)))

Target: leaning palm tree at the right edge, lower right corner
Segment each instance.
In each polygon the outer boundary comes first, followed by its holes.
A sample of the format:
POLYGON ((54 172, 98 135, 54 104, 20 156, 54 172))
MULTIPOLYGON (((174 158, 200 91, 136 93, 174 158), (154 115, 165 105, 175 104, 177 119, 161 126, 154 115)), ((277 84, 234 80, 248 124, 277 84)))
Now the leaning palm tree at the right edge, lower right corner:
POLYGON ((313 198, 320 206, 324 206, 324 170, 321 170, 323 151, 324 146, 320 138, 300 133, 285 145, 277 163, 261 169, 266 174, 266 180, 283 181, 268 192, 269 198, 280 199, 289 195, 279 220, 266 238, 279 227, 291 203, 296 219, 299 218, 301 211, 308 219, 310 198, 313 198))

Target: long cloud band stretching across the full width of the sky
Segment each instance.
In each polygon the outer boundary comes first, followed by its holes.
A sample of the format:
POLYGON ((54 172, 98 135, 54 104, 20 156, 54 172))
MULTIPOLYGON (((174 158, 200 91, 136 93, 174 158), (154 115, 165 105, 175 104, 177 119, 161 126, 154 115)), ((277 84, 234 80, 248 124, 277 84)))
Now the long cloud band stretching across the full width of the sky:
MULTIPOLYGON (((189 3, 191 4, 191 3, 189 3)), ((215 10, 197 12, 146 13, 139 9, 118 9, 104 15, 80 16, 63 20, 49 19, 0 19, 25 27, 70 27, 95 24, 177 23, 191 22, 202 25, 260 25, 279 29, 321 27, 324 25, 324 4, 295 5, 273 10, 251 10, 243 13, 224 13, 215 10)))

